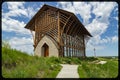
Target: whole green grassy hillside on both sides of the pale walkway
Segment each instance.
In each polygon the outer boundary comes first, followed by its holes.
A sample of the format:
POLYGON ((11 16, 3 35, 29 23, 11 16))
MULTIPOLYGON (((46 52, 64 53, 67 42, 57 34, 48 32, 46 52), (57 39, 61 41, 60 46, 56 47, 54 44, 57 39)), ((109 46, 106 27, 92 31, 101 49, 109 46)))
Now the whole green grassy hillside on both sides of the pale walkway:
POLYGON ((77 64, 80 78, 115 78, 118 76, 118 57, 56 58, 37 57, 2 46, 2 76, 4 78, 55 78, 62 66, 77 64), (107 61, 106 64, 97 64, 107 61))

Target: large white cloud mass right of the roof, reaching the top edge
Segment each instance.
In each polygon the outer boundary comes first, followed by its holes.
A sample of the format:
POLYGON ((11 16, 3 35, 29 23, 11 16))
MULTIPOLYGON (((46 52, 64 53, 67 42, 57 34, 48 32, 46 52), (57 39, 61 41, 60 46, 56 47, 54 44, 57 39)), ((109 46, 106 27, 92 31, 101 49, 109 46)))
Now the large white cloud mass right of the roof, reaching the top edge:
POLYGON ((87 50, 104 49, 105 43, 117 42, 116 37, 101 38, 101 35, 109 27, 108 18, 111 12, 115 6, 118 6, 116 2, 58 2, 59 5, 62 9, 78 14, 83 18, 83 24, 93 36, 87 43, 87 50), (91 13, 95 14, 95 18, 89 23, 89 19, 92 17, 91 13))

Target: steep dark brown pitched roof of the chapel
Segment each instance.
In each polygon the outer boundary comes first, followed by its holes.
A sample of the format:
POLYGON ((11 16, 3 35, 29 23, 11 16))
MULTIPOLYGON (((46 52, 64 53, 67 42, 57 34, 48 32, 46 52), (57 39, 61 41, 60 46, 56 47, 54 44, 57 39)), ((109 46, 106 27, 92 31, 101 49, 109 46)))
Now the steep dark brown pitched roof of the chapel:
POLYGON ((65 10, 62 10, 62 9, 59 9, 59 8, 56 8, 56 7, 53 7, 53 6, 49 6, 49 5, 46 5, 44 4, 42 6, 42 8, 32 17, 32 19, 28 22, 28 24, 25 26, 25 28, 27 29, 30 29, 30 30, 35 30, 35 19, 36 17, 38 17, 43 11, 47 10, 47 9, 51 9, 53 11, 60 11, 64 14, 68 14, 68 15, 71 15, 82 27, 82 29, 85 31, 86 35, 89 35, 92 37, 92 35, 87 31, 87 29, 84 27, 84 25, 79 21, 79 19, 74 15, 74 13, 72 12, 68 12, 68 11, 65 11, 65 10))

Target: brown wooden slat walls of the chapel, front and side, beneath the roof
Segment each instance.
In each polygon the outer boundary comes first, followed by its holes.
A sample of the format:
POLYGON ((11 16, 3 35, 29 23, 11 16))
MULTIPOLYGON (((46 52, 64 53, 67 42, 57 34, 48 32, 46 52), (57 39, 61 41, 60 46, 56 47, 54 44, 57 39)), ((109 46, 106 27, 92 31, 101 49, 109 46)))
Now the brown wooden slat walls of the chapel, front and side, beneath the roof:
POLYGON ((76 34, 80 33, 81 28, 71 15, 48 9, 35 19, 34 25, 35 47, 44 35, 49 35, 58 43, 61 57, 85 56, 84 37, 76 34))

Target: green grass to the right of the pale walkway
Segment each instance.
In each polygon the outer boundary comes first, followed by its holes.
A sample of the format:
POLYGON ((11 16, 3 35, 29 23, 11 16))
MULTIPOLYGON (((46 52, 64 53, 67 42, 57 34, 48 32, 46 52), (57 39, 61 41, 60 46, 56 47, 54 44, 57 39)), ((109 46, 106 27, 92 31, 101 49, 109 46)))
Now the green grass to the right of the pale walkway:
POLYGON ((116 78, 118 76, 118 60, 112 58, 97 58, 96 60, 82 61, 78 67, 80 78, 116 78), (96 64, 98 61, 107 61, 106 64, 96 64))

